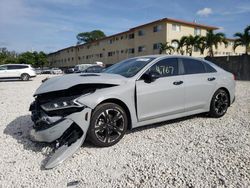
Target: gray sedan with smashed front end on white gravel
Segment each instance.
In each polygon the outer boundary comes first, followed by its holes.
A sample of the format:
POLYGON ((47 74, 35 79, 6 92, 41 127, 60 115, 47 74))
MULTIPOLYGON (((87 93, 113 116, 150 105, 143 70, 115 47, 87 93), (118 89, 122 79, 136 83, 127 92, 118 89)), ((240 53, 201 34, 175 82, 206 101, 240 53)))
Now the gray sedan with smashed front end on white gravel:
POLYGON ((152 55, 124 60, 103 73, 50 78, 34 96, 30 135, 39 142, 57 141, 45 166, 53 168, 86 136, 107 147, 127 129, 204 112, 222 117, 234 101, 235 80, 206 60, 152 55))

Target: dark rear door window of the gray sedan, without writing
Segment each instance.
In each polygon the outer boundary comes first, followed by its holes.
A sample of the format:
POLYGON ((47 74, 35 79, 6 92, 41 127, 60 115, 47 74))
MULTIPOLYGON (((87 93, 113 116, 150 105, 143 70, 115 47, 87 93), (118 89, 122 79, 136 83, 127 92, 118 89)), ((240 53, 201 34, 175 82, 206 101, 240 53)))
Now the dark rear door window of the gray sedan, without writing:
POLYGON ((185 74, 199 74, 205 73, 205 67, 202 61, 195 59, 182 59, 185 74))

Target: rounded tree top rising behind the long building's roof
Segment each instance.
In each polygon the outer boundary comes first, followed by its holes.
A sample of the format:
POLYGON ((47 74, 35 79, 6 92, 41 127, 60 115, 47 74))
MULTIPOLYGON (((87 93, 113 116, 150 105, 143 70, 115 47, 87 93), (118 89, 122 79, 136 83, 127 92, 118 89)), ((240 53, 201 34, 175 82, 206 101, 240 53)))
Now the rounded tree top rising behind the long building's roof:
POLYGON ((76 36, 77 44, 93 42, 93 41, 98 40, 98 39, 103 38, 103 37, 106 37, 106 35, 101 30, 93 30, 91 32, 83 32, 83 33, 79 33, 76 36))

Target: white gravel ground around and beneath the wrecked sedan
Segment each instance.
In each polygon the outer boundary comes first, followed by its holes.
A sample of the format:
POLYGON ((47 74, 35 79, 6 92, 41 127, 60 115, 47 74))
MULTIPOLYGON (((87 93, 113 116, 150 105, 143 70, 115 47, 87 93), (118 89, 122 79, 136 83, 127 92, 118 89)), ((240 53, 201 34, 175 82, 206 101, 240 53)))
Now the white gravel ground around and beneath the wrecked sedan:
POLYGON ((109 148, 85 143, 44 170, 51 147, 28 137, 29 104, 44 78, 0 82, 0 187, 250 187, 250 82, 237 82, 222 118, 150 125, 109 148))

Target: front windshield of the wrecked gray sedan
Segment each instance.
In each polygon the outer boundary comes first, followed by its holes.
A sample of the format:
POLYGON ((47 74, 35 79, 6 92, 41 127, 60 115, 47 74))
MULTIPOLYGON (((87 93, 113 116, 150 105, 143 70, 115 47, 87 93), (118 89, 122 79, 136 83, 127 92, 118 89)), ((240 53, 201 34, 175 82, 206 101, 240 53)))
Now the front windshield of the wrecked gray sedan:
POLYGON ((120 74, 130 78, 136 75, 143 67, 154 59, 155 58, 151 57, 127 59, 107 68, 104 73, 120 74))

